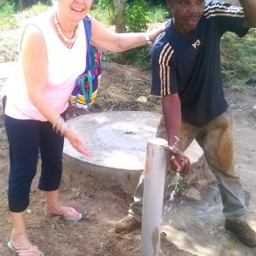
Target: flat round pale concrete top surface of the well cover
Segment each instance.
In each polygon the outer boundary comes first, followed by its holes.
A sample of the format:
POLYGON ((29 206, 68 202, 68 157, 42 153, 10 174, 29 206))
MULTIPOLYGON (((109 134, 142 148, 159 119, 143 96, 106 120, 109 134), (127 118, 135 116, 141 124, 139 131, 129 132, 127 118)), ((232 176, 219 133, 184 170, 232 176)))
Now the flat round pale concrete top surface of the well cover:
POLYGON ((155 136, 159 113, 143 111, 89 113, 67 121, 84 138, 87 157, 65 140, 64 154, 96 165, 143 170, 147 140, 155 136))

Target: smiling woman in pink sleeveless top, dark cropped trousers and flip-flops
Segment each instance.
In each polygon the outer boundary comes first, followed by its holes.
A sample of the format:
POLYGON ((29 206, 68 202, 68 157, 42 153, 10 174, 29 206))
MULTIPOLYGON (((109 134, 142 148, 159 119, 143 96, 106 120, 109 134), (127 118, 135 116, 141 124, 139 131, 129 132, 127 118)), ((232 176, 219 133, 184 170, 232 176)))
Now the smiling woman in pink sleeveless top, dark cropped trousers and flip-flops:
MULTIPOLYGON (((23 30, 19 72, 7 93, 4 122, 9 139, 9 211, 13 222, 8 246, 20 256, 44 255, 29 240, 25 223, 38 148, 42 159, 38 189, 45 191, 46 215, 71 221, 82 218, 72 207, 61 205, 58 189, 64 137, 81 154, 91 155, 84 140, 66 125, 65 112, 75 80, 86 65, 83 19, 93 0, 58 2, 56 10, 39 15, 23 30)), ((90 44, 120 52, 153 43, 163 28, 149 34, 117 34, 91 18, 91 30, 90 44)))

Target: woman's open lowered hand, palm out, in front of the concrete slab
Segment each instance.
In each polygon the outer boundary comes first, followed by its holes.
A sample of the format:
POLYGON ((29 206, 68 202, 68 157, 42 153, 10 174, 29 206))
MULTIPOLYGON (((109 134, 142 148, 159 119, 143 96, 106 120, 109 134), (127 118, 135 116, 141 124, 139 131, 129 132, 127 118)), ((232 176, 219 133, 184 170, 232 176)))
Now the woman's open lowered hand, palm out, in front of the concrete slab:
POLYGON ((79 153, 92 156, 92 153, 85 148, 84 140, 69 126, 67 127, 65 137, 69 143, 71 143, 72 147, 77 149, 79 153))

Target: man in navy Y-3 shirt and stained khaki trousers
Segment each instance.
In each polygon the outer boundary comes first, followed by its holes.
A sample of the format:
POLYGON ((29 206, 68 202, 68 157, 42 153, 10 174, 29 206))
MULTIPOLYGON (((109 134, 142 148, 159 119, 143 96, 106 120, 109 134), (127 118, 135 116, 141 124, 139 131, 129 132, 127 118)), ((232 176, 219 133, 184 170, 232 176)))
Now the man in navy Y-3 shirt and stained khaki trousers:
MULTIPOLYGON (((240 0, 241 8, 228 3, 203 0, 166 0, 173 18, 154 44, 152 90, 162 96, 164 119, 157 137, 169 145, 180 138, 184 151, 195 139, 203 148, 207 164, 218 180, 223 201, 225 229, 249 247, 256 246, 256 234, 245 221, 247 207, 233 160, 232 117, 224 98, 219 41, 224 32, 244 37, 256 26, 256 1, 240 0)), ((189 160, 171 152, 171 166, 177 172, 189 167, 189 160)), ((115 225, 115 232, 130 232, 141 226, 143 175, 129 214, 115 225)))

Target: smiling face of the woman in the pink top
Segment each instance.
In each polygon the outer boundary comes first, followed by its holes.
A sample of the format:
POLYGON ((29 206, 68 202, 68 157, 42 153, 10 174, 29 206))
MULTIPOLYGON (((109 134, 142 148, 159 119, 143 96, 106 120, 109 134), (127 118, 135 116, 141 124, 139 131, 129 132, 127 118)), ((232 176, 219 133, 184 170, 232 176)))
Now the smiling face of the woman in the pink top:
POLYGON ((60 15, 71 22, 83 20, 93 0, 58 0, 60 15))

